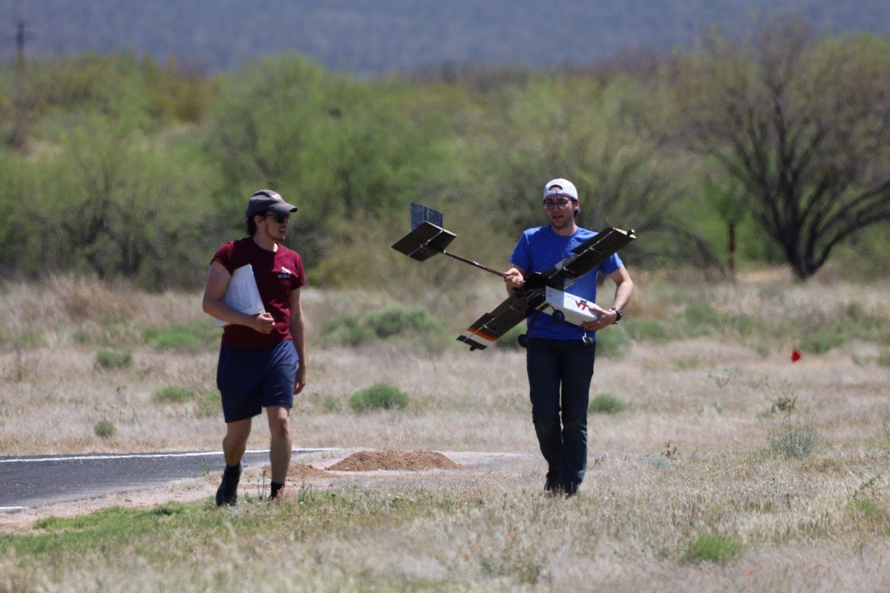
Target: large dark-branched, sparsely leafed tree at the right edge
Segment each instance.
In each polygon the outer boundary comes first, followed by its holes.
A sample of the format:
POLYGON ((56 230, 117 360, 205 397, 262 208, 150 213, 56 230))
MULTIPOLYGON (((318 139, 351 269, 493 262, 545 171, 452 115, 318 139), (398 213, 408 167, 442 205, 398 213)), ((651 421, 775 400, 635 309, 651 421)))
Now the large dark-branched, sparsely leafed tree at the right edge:
POLYGON ((712 155, 805 280, 854 233, 890 220, 886 40, 818 39, 799 21, 748 48, 712 38, 676 61, 676 137, 712 155))

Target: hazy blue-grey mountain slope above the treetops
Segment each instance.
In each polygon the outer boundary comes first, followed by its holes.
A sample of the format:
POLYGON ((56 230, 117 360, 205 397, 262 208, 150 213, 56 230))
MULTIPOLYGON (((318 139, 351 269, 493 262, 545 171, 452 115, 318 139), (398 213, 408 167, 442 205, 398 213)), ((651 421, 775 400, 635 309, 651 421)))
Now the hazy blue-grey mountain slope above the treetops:
POLYGON ((833 33, 890 31, 888 0, 0 0, 0 57, 133 49, 209 72, 295 50, 361 75, 444 62, 589 64, 627 48, 744 34, 791 13, 833 33), (3 34, 5 29, 6 34, 3 34))

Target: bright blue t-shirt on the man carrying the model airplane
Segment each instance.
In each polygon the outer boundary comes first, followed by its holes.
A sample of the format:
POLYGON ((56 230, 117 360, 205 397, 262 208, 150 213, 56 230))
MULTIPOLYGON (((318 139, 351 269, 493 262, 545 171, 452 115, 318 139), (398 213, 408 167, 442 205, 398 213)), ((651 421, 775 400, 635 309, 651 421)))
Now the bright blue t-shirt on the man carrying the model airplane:
MULTIPOLYGON (((577 248, 584 241, 595 237, 596 234, 593 231, 578 228, 575 234, 570 237, 563 237, 557 234, 549 224, 537 229, 529 229, 522 233, 522 237, 516 243, 513 255, 510 256, 510 263, 518 268, 522 268, 527 275, 531 275, 533 272, 545 272, 553 267, 554 264, 562 261, 562 259, 573 255, 572 249, 577 248)), ((566 289, 566 292, 595 302, 597 272, 611 274, 620 267, 621 258, 617 253, 612 254, 602 264, 581 276, 566 289)), ((531 321, 531 317, 526 319, 526 325, 528 325, 529 321, 531 321)), ((529 337, 573 340, 581 339, 584 336, 584 329, 567 321, 556 321, 550 313, 540 313, 534 325, 531 326, 528 335, 529 337)), ((595 334, 588 335, 595 338, 595 334)))

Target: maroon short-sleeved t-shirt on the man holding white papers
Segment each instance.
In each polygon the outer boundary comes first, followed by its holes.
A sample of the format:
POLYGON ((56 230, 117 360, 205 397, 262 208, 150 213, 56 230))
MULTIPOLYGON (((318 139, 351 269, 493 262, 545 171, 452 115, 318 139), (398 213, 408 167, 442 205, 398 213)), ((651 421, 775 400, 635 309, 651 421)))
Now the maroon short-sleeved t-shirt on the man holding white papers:
POLYGON ((235 272, 242 265, 251 264, 263 305, 275 320, 271 334, 261 334, 246 325, 230 323, 223 329, 224 346, 259 350, 291 339, 290 291, 306 283, 300 254, 281 244, 278 251, 266 251, 247 237, 223 245, 212 261, 223 264, 229 273, 235 272))

